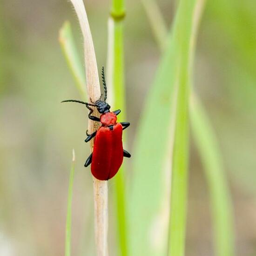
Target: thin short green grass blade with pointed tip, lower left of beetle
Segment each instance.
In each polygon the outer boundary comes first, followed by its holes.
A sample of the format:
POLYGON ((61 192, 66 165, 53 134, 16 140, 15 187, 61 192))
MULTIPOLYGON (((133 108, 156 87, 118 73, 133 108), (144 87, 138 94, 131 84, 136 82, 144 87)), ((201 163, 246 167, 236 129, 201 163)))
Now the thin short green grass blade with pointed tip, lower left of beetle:
POLYGON ((65 256, 71 256, 71 222, 72 222, 72 195, 73 195, 73 182, 74 182, 74 162, 75 162, 75 155, 74 155, 74 149, 73 149, 72 166, 71 166, 71 170, 70 170, 68 195, 67 195, 65 256))

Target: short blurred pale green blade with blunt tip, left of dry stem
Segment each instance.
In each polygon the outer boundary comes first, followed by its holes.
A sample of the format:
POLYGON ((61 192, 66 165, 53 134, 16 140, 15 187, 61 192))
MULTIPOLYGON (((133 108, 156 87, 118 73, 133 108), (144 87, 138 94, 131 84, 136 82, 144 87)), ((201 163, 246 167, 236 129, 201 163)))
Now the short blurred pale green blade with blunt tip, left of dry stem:
POLYGON ((69 21, 66 21, 60 29, 59 32, 59 41, 63 54, 66 58, 67 65, 73 74, 76 87, 81 94, 81 98, 86 100, 86 80, 85 73, 81 59, 77 48, 75 46, 74 37, 72 34, 71 26, 69 21))

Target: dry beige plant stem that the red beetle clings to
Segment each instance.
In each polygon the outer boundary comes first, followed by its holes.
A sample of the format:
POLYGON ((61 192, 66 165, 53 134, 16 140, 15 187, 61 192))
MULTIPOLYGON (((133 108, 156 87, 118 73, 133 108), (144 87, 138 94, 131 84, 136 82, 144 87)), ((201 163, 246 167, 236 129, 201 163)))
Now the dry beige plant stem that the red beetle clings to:
MULTIPOLYGON (((71 2, 78 16, 84 38, 84 60, 88 98, 96 101, 100 98, 101 89, 94 44, 86 10, 82 0, 71 0, 71 2)), ((94 115, 99 117, 98 111, 94 111, 94 115)), ((91 120, 88 121, 88 132, 90 134, 97 128, 99 128, 98 123, 94 123, 91 120)), ((93 152, 94 140, 91 140, 90 146, 91 152, 93 152)), ((108 256, 108 183, 107 181, 99 181, 93 177, 93 184, 96 252, 97 256, 108 256)))

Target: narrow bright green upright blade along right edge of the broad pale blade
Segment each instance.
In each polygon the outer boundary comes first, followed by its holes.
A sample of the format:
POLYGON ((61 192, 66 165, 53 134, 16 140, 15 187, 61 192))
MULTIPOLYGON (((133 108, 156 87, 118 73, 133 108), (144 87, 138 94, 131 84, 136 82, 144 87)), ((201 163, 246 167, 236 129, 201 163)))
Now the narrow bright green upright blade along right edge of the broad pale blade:
POLYGON ((189 85, 191 80, 190 58, 195 34, 195 7, 200 2, 181 0, 178 15, 182 17, 178 34, 173 38, 180 42, 180 79, 176 105, 175 141, 173 153, 171 209, 168 255, 184 256, 187 214, 187 179, 189 158, 189 85), (188 11, 189 10, 189 11, 188 11), (184 18, 186 17, 186 18, 184 18))

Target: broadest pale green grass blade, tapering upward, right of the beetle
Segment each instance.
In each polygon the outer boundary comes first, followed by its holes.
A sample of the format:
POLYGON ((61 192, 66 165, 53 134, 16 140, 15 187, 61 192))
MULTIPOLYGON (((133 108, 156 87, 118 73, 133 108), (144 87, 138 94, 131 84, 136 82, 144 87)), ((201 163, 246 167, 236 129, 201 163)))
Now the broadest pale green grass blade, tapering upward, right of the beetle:
MULTIPOLYGON (((188 65, 189 65, 189 39, 191 36, 192 13, 195 1, 182 0, 178 13, 175 16, 175 24, 172 35, 167 42, 167 49, 156 73, 155 81, 146 99, 144 112, 136 137, 134 153, 134 180, 131 192, 131 255, 165 255, 168 230, 162 230, 154 243, 152 234, 157 232, 155 221, 161 218, 165 184, 166 184, 166 160, 170 158, 170 128, 173 116, 171 108, 174 101, 174 89, 179 85, 179 100, 184 104, 178 105, 179 126, 182 133, 177 134, 181 141, 180 150, 187 152, 187 97, 188 97, 188 65), (184 19, 186 17, 186 19, 184 19), (183 99, 184 97, 184 99, 183 99), (180 115, 182 113, 182 115, 180 115), (185 119, 182 119, 183 114, 185 119)), ((176 140, 177 143, 177 140, 176 140)), ((182 152, 183 153, 183 152, 182 152)), ((186 194, 186 158, 183 162, 177 162, 180 155, 176 154, 176 166, 181 165, 184 183, 182 183, 181 205, 178 205, 182 216, 181 229, 184 229, 185 219, 185 194, 186 194)), ((182 159, 183 160, 183 159, 182 159)), ((180 168, 179 168, 180 169, 180 168)), ((170 172, 170 169, 169 169, 170 172)), ((175 178, 176 179, 176 178, 175 178)), ((183 180, 182 180, 183 181, 183 180)), ((179 182, 179 181, 177 181, 179 182)), ((176 180, 175 180, 176 183, 176 180)), ((175 199, 174 199, 175 200, 175 199)), ((168 210, 167 210, 168 213, 168 210)), ((168 222, 168 221, 167 221, 168 222)), ((172 222, 174 223, 174 222, 172 222)), ((173 230, 171 231, 173 232, 173 230)), ((184 230, 182 230, 184 233, 184 230)), ((174 254, 175 255, 175 254, 174 254)))

